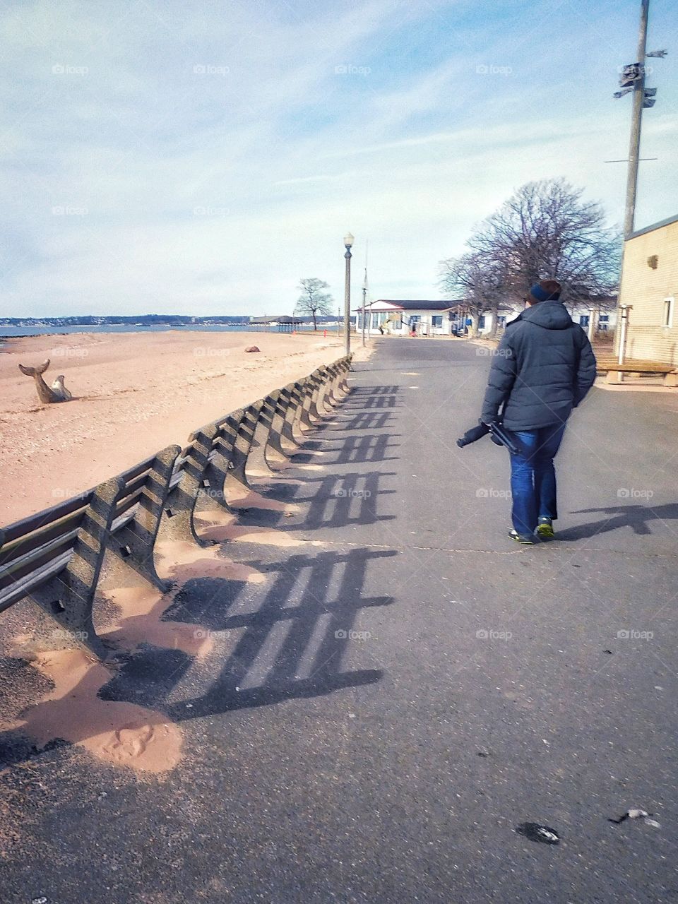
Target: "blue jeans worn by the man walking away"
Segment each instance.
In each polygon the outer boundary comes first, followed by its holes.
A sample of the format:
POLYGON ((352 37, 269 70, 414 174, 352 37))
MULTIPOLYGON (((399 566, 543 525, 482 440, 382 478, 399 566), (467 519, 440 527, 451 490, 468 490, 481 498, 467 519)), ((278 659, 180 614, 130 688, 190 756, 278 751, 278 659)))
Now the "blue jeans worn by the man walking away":
POLYGON ((564 431, 565 424, 511 431, 520 446, 511 456, 511 518, 518 533, 532 534, 540 518, 558 517, 553 459, 564 431))

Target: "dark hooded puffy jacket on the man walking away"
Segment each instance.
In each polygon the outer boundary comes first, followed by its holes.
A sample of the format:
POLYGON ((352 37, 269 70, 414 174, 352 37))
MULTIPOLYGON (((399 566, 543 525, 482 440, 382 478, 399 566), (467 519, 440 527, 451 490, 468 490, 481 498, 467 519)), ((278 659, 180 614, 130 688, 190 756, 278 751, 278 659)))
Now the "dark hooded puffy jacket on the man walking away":
POLYGON ((482 420, 490 423, 504 407, 510 430, 564 423, 596 379, 589 338, 560 301, 526 307, 506 325, 494 353, 482 420))

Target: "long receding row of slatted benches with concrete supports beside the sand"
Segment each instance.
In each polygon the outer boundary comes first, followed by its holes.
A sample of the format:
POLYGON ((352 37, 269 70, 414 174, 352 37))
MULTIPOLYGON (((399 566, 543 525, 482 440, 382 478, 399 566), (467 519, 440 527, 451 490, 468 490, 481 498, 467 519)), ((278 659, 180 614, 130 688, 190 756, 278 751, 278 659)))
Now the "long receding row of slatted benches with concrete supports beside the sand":
POLYGON ((250 488, 247 466, 257 453, 287 458, 348 393, 351 355, 318 368, 245 408, 212 421, 123 474, 72 499, 0 529, 0 612, 20 600, 36 607, 40 649, 86 647, 103 658, 94 628, 97 589, 171 583, 155 570, 155 545, 186 540, 211 545, 196 530, 196 509, 233 511, 227 488, 250 488), (297 431, 297 435, 296 432, 297 431))

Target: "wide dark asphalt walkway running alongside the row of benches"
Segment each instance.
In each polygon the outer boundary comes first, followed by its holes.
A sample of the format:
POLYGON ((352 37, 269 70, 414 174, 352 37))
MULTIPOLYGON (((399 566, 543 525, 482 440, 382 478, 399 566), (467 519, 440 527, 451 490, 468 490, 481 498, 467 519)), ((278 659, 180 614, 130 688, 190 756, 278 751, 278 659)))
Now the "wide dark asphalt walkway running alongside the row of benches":
POLYGON ((148 648, 106 689, 181 724, 181 765, 12 768, 3 902, 678 896, 678 399, 593 391, 560 541, 514 547, 504 450, 455 445, 489 361, 381 340, 357 365, 306 466, 259 487, 298 513, 246 515, 304 542, 226 544, 266 579, 193 581, 169 613, 215 653, 148 648), (634 806, 659 827, 609 822, 634 806))

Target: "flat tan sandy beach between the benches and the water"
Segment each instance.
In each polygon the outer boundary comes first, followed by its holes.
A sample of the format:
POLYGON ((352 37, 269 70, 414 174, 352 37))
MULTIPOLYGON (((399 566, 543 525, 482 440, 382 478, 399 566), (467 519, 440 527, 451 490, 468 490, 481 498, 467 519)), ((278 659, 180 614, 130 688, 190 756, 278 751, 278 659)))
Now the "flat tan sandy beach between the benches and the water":
MULTIPOLYGON (((362 351, 362 350, 361 350, 362 351)), ((0 347, 0 525, 118 474, 343 354, 336 334, 68 334, 0 347), (246 353, 256 344, 260 353, 246 353), (18 364, 47 358, 73 400, 44 405, 18 364)))

